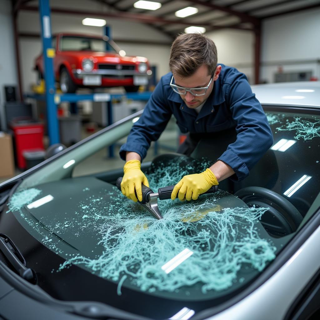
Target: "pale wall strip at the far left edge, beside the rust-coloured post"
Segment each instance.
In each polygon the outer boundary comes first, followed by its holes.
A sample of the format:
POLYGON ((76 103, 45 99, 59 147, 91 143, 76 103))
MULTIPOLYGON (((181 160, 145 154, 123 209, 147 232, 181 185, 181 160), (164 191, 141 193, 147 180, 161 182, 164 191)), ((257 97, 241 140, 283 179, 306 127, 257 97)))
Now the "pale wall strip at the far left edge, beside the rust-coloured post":
MULTIPOLYGON (((4 85, 17 86, 17 69, 11 1, 0 0, 0 103, 4 101, 4 85)), ((18 96, 19 92, 17 92, 18 96)))

